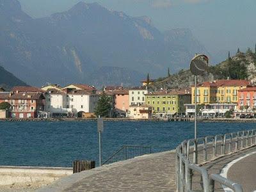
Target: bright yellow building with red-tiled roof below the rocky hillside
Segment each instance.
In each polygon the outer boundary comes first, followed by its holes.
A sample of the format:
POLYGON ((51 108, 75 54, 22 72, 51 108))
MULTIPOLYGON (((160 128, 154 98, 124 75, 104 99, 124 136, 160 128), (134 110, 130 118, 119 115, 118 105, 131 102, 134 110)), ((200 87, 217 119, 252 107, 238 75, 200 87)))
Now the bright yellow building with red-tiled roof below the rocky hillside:
MULTIPOLYGON (((237 103, 238 90, 250 85, 247 80, 216 80, 198 84, 196 88, 196 103, 237 103)), ((191 103, 195 104, 195 86, 191 86, 191 103)))

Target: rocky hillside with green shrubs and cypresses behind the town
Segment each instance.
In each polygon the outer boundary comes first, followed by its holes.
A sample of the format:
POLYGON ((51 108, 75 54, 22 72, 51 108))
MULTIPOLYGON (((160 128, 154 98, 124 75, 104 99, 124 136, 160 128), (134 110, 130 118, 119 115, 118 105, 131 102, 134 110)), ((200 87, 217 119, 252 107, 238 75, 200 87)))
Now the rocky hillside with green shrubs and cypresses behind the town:
MULTIPOLYGON (((250 48, 245 53, 237 49, 236 55, 232 57, 230 56, 230 52, 228 52, 227 60, 218 65, 210 66, 207 72, 198 76, 197 79, 198 83, 214 81, 214 79, 248 79, 256 81, 256 45, 254 52, 250 48)), ((194 76, 190 70, 182 69, 176 74, 168 75, 168 77, 159 77, 150 86, 150 89, 188 88, 193 83, 194 76)))

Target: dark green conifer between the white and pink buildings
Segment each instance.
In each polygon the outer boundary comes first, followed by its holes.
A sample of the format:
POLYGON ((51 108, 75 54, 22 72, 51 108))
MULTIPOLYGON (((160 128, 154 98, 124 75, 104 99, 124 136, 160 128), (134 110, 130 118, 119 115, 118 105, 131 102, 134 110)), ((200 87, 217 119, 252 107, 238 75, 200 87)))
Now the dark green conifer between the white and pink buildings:
POLYGON ((102 92, 102 95, 100 95, 100 98, 97 102, 97 106, 95 108, 95 115, 106 117, 110 116, 109 113, 111 111, 111 104, 109 97, 106 95, 105 92, 102 92))

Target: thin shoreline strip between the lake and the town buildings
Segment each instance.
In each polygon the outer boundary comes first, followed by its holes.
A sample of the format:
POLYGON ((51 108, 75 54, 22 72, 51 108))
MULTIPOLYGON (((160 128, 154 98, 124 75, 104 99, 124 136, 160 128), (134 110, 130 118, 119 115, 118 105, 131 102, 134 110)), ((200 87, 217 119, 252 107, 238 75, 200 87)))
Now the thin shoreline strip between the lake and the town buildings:
MULTIPOLYGON (((96 122, 97 118, 0 118, 0 122, 96 122)), ((194 118, 172 118, 171 120, 104 118, 105 122, 193 122, 194 118)), ((256 118, 197 118, 197 122, 256 122, 256 118)))

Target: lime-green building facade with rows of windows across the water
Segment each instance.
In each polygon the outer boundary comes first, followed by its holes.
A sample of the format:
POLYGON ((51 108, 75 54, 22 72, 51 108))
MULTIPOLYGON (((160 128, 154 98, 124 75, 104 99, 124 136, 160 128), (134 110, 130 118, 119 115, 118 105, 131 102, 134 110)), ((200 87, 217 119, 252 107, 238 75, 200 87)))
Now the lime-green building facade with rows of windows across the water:
POLYGON ((190 93, 179 91, 148 93, 145 97, 146 104, 152 106, 152 111, 157 118, 185 113, 184 104, 191 102, 190 93))

